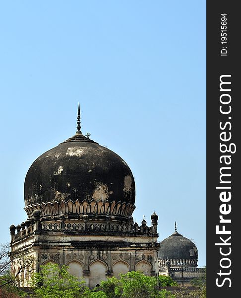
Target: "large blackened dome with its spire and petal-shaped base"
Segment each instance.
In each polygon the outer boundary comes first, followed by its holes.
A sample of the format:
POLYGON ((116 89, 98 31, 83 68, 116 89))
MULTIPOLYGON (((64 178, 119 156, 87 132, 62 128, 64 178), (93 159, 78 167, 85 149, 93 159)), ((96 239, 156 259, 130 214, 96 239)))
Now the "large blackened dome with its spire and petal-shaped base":
POLYGON ((130 168, 118 154, 82 135, 79 115, 76 134, 43 153, 29 168, 24 183, 25 210, 29 217, 34 209, 39 209, 42 216, 131 216, 135 182, 130 168), (122 208, 118 209, 118 204, 122 208))

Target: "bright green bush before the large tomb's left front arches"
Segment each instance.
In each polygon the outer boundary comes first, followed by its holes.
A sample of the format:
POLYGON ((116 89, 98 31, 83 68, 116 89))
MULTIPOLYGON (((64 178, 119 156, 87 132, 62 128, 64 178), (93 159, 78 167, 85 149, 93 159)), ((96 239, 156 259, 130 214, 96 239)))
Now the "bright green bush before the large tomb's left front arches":
MULTIPOLYGON (((41 272, 34 273, 32 285, 35 298, 79 298, 85 292, 84 282, 78 282, 77 277, 67 271, 67 266, 61 268, 58 264, 48 263, 40 266, 41 272)), ((88 293, 86 293, 88 294, 88 293)), ((88 297, 88 296, 85 296, 88 297)))

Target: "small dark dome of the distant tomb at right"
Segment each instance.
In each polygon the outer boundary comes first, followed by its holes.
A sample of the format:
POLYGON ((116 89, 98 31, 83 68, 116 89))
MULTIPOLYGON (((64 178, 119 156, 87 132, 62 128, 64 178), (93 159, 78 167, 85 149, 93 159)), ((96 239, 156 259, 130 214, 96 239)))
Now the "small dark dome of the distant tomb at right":
POLYGON ((188 263, 195 264, 196 266, 198 251, 196 245, 191 240, 175 231, 160 243, 158 257, 160 260, 178 259, 181 260, 180 262, 190 260, 191 262, 188 263))

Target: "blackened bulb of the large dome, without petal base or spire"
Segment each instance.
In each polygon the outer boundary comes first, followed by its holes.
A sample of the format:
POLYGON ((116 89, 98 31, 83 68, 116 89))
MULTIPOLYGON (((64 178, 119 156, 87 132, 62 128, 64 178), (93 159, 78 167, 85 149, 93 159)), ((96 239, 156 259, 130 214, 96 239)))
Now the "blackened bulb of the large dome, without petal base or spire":
POLYGON ((121 201, 134 205, 130 168, 115 152, 90 142, 67 142, 45 152, 29 168, 25 205, 69 200, 121 201))

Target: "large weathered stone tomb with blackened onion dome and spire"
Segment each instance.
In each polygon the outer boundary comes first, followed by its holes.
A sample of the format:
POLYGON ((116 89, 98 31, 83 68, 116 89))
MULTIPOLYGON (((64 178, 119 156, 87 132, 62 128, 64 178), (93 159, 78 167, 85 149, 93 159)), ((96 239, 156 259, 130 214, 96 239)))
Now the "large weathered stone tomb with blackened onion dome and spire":
MULTIPOLYGON (((95 287, 128 271, 158 276, 157 221, 133 223, 135 182, 115 152, 76 134, 38 157, 24 184, 27 220, 10 226, 12 274, 31 256, 33 268, 57 263, 95 287)), ((20 275, 29 287, 30 275, 20 275)))

